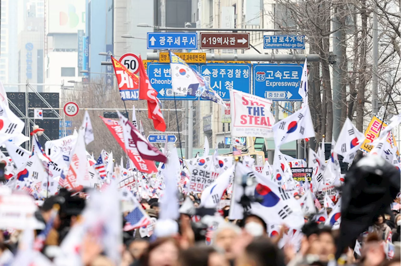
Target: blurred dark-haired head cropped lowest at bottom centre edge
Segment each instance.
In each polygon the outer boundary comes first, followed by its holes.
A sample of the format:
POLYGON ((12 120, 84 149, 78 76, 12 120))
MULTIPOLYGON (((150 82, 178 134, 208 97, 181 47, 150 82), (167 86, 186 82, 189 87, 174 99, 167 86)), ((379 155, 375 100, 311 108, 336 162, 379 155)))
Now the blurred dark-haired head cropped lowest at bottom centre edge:
POLYGON ((208 247, 191 247, 180 252, 179 266, 229 266, 223 252, 208 247))

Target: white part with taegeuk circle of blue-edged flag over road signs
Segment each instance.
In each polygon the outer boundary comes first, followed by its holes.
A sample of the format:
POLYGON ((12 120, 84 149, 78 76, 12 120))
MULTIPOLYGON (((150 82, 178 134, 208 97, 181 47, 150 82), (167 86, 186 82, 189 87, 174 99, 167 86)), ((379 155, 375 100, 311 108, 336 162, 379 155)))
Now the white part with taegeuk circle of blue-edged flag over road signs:
POLYGON ((199 80, 194 70, 180 57, 170 51, 171 84, 174 93, 187 95, 191 85, 192 90, 198 90, 199 80))

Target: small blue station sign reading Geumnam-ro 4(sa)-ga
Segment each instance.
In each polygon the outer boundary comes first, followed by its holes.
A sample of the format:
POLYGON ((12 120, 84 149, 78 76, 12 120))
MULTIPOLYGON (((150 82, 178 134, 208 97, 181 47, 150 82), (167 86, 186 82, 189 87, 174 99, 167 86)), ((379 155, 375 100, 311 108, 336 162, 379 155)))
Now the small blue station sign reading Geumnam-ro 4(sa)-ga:
POLYGON ((264 49, 305 49, 304 35, 264 35, 264 49))

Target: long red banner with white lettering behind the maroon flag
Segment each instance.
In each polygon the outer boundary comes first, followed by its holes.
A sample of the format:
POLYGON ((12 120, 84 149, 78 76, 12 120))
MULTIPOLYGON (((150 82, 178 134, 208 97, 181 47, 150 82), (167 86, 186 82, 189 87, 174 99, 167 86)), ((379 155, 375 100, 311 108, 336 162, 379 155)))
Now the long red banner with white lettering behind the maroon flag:
POLYGON ((118 144, 122 147, 122 149, 124 149, 124 151, 126 151, 128 157, 130 157, 132 162, 134 162, 134 165, 139 172, 147 174, 152 174, 157 172, 157 168, 154 162, 142 159, 138 150, 136 151, 134 151, 133 149, 130 149, 129 151, 126 150, 124 143, 124 133, 119 121, 107 119, 104 117, 100 118, 103 120, 103 123, 105 123, 107 129, 109 129, 109 131, 111 132, 115 140, 118 142, 118 144))

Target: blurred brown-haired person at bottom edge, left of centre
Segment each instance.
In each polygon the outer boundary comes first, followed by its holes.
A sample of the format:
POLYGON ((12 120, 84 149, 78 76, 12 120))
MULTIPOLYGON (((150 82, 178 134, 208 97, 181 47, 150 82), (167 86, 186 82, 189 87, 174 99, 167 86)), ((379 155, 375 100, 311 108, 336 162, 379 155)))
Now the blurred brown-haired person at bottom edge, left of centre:
POLYGON ((175 266, 180 252, 179 243, 171 237, 161 237, 150 243, 141 256, 140 266, 175 266))

